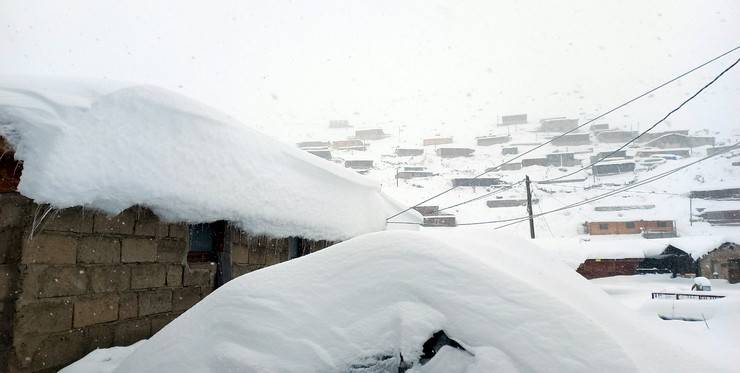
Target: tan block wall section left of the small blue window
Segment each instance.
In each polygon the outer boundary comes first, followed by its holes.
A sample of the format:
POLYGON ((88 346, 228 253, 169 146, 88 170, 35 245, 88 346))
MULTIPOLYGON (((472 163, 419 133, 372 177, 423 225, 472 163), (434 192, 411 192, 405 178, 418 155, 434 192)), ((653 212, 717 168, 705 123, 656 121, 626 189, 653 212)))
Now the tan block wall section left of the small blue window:
POLYGON ((12 352, 0 360, 9 372, 56 371, 96 348, 148 338, 215 286, 214 264, 185 260, 186 225, 138 207, 114 217, 70 208, 51 212, 31 235, 32 215, 47 208, 3 193, 1 211, 18 200, 28 215, 17 244, 12 352))

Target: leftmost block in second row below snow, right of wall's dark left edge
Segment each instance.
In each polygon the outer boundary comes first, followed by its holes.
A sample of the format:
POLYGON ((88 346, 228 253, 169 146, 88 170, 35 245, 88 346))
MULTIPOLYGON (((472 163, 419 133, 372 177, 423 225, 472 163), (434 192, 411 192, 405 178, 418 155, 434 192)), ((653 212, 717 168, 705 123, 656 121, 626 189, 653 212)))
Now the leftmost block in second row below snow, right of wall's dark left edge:
POLYGON ((77 239, 70 236, 40 233, 32 240, 23 240, 23 264, 74 264, 77 260, 77 239))

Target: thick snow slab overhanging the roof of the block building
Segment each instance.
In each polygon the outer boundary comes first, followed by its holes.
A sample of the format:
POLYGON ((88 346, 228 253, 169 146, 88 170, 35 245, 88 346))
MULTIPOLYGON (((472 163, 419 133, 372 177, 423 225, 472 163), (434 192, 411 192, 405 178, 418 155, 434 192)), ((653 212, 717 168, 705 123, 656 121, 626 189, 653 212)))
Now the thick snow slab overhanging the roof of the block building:
POLYGON ((59 208, 139 204, 331 240, 382 230, 401 210, 371 179, 151 86, 0 79, 0 134, 24 162, 20 192, 59 208))

